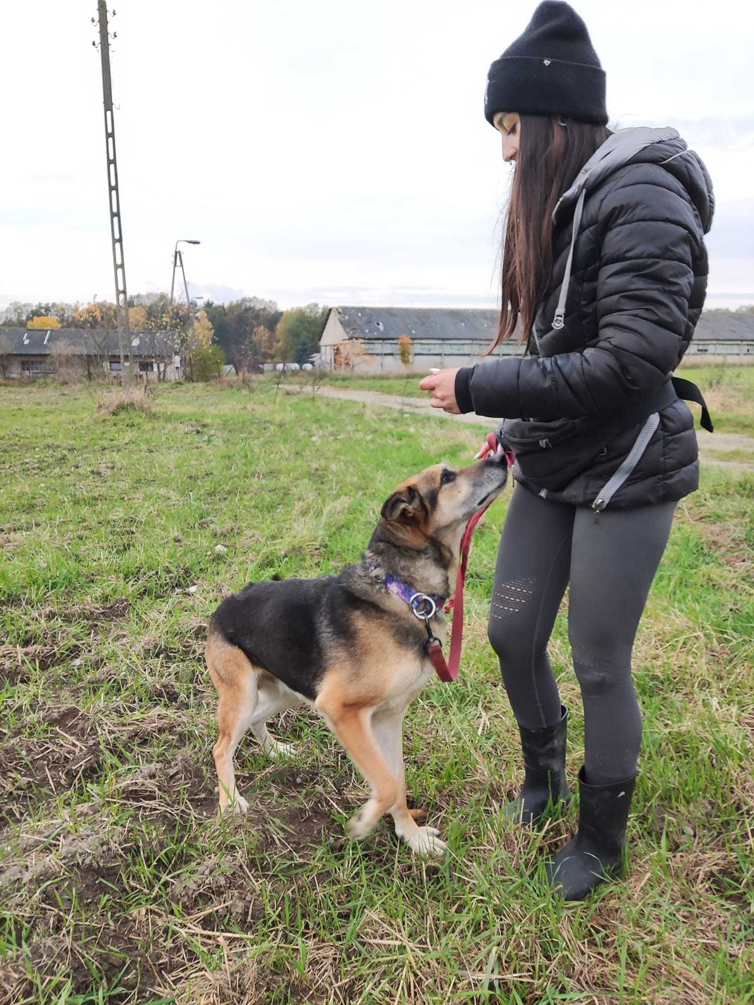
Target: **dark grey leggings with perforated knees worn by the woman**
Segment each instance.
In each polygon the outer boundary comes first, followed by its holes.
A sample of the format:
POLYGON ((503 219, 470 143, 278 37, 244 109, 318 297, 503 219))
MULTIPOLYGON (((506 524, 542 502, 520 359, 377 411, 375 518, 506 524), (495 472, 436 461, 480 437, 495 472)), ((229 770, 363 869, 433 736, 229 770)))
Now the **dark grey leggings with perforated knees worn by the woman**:
POLYGON ((568 583, 568 636, 584 702, 584 763, 592 785, 636 770, 641 716, 631 647, 668 544, 675 502, 605 510, 541 498, 516 485, 503 529, 490 641, 519 726, 554 726, 560 696, 547 643, 568 583))

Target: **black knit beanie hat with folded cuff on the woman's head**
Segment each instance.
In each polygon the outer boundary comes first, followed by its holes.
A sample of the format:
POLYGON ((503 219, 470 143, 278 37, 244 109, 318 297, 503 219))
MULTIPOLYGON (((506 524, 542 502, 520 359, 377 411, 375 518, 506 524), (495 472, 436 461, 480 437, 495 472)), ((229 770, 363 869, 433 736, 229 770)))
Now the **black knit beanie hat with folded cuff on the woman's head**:
POLYGON ((607 125, 605 71, 570 4, 544 0, 490 67, 485 117, 491 125, 499 112, 607 125))

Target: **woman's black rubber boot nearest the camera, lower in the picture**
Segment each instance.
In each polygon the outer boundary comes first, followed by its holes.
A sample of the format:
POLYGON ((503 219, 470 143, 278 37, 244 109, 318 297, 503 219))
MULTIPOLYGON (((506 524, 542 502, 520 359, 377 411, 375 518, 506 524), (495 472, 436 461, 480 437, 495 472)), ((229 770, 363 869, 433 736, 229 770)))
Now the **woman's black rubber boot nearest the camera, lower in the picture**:
POLYGON ((547 879, 566 900, 583 900, 619 875, 636 776, 610 785, 587 785, 579 772, 579 829, 547 862, 547 879))

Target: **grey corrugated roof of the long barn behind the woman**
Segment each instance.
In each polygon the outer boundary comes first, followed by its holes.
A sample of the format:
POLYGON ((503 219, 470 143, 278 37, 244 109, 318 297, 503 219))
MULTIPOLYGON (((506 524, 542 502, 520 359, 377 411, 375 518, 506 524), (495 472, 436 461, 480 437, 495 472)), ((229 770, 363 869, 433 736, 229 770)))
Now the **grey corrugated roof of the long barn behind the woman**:
MULTIPOLYGON (((341 325, 355 339, 395 340, 401 335, 432 342, 480 339, 492 342, 498 330, 498 311, 458 308, 337 307, 341 325)), ((695 333, 697 341, 750 342, 754 314, 708 311, 695 333)))

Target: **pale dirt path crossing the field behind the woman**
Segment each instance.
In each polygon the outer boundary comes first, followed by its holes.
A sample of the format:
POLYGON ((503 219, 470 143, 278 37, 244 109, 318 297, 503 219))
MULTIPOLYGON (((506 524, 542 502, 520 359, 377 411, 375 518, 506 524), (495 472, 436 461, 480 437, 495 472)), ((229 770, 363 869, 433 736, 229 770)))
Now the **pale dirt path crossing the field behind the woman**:
MULTIPOLYGON (((302 390, 306 390, 302 388, 302 390)), ((429 415, 450 422, 464 422, 476 426, 484 426, 487 430, 495 429, 500 424, 499 419, 489 419, 484 415, 448 415, 438 408, 432 408, 428 400, 423 398, 404 398, 398 394, 382 394, 380 391, 357 391, 349 388, 321 387, 318 394, 326 398, 341 398, 346 401, 360 401, 364 405, 380 405, 383 408, 397 408, 411 415, 429 415)), ((730 471, 754 471, 754 437, 743 436, 740 433, 708 433, 697 429, 699 450, 702 458, 708 464, 717 464, 730 471), (744 451, 751 458, 726 459, 720 454, 729 451, 744 451)))

